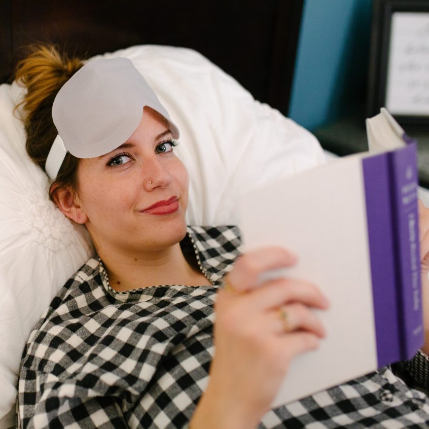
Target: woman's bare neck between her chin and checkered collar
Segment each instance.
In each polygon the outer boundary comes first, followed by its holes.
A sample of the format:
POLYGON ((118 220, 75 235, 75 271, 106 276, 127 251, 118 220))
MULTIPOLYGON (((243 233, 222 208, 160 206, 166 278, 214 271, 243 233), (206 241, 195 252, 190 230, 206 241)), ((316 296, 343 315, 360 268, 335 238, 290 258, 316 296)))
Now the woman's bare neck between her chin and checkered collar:
MULTIPOLYGON (((98 249, 98 254, 111 287, 118 292, 162 284, 210 284, 202 272, 185 258, 180 243, 159 251, 138 254, 124 254, 116 249, 103 250, 98 249)), ((192 256, 195 258, 195 254, 192 256)))

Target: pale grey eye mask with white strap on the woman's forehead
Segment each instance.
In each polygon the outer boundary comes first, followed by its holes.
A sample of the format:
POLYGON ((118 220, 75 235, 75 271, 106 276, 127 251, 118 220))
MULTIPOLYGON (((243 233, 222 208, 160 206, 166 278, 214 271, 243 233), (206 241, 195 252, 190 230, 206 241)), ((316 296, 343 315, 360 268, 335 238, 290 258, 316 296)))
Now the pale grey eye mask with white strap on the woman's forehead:
POLYGON ((137 128, 145 106, 161 114, 173 137, 179 137, 168 112, 128 58, 87 62, 62 86, 52 105, 58 135, 45 164, 51 180, 67 152, 94 158, 121 146, 137 128))

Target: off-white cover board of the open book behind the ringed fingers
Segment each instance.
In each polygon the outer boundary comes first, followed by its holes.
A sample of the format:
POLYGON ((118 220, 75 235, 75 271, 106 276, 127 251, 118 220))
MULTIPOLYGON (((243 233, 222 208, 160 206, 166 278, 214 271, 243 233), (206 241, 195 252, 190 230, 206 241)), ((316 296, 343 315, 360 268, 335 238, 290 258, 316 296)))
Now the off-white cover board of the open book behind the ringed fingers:
POLYGON ((273 406, 377 368, 363 173, 359 157, 332 161, 244 196, 245 250, 282 245, 299 262, 286 276, 318 285, 327 338, 290 367, 273 406))

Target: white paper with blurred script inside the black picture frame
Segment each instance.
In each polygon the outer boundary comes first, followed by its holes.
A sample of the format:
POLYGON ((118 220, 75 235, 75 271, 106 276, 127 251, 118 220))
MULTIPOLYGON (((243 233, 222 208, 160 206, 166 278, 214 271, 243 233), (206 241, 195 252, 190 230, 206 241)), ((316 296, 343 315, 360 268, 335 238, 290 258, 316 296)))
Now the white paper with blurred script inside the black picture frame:
POLYGON ((387 110, 429 115, 429 13, 392 14, 388 58, 387 110))

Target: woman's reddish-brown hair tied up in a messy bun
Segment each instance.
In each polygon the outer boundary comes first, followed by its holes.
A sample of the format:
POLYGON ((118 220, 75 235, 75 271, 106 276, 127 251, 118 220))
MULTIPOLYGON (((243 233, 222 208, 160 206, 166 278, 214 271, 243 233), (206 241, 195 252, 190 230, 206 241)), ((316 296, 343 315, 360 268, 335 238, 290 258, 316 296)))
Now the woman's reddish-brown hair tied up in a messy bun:
MULTIPOLYGON (((27 93, 15 106, 15 111, 22 108, 28 155, 45 170, 49 150, 58 133, 52 121, 52 104, 60 88, 83 66, 83 62, 60 53, 54 45, 34 44, 28 50, 27 57, 16 66, 15 80, 26 87, 27 93)), ((78 158, 67 153, 49 188, 52 201, 59 188, 69 187, 77 191, 78 162, 78 158)))

